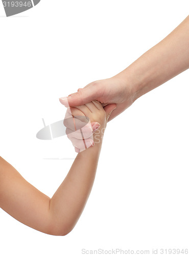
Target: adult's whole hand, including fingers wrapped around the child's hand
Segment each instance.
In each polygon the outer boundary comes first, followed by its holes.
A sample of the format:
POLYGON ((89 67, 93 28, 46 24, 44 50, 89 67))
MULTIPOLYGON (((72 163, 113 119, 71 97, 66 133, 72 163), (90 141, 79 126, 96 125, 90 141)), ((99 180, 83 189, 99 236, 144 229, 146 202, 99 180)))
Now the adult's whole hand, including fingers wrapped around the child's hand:
POLYGON ((97 100, 103 104, 104 110, 109 117, 108 121, 122 113, 132 104, 129 86, 125 86, 121 78, 118 77, 89 83, 85 88, 78 89, 77 93, 60 98, 60 102, 68 107, 65 117, 67 121, 64 121, 64 125, 66 126, 67 137, 72 141, 77 153, 84 151, 93 144, 92 134, 100 125, 96 122, 85 125, 77 118, 73 120, 70 118, 72 117, 70 109, 72 110, 73 106, 80 106, 84 102, 87 103, 92 100, 97 100), (73 121, 77 122, 78 127, 82 127, 82 132, 80 129, 75 131, 73 121))

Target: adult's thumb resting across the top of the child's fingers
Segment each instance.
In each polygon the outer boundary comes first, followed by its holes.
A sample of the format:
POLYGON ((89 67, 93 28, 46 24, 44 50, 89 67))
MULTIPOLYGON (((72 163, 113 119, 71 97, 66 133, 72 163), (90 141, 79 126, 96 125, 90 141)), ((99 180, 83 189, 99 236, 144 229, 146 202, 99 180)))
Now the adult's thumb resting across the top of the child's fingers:
POLYGON ((68 106, 80 106, 84 105, 92 100, 97 98, 98 89, 93 86, 88 86, 79 90, 77 93, 74 93, 68 97, 59 98, 60 102, 68 107, 68 106))

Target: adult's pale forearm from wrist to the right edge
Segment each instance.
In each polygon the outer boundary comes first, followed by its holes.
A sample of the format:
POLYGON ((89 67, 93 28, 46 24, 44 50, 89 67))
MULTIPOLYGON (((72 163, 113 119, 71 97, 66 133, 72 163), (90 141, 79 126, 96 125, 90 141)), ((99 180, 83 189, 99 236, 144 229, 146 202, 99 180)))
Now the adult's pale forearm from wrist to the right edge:
POLYGON ((130 84, 133 101, 189 68, 189 16, 117 77, 130 84))

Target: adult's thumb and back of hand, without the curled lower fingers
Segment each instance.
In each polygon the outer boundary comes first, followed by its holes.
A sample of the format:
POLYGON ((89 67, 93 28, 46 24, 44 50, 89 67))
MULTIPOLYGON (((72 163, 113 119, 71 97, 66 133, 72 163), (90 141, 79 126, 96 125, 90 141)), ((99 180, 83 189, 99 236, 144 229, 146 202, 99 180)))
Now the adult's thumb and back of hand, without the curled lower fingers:
POLYGON ((131 88, 127 80, 122 79, 122 75, 91 82, 83 89, 78 89, 77 93, 60 98, 60 102, 67 107, 83 105, 92 100, 101 102, 107 114, 111 112, 108 121, 121 114, 133 103, 131 88), (116 109, 113 105, 113 111, 112 104, 116 104, 116 109))

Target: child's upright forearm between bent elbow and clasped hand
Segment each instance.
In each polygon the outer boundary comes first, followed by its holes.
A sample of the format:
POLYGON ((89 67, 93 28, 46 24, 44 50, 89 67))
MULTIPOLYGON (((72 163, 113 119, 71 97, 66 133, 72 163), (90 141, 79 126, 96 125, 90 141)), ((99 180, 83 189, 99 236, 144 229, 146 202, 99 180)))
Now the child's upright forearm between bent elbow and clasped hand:
POLYGON ((52 233, 64 235, 76 225, 95 180, 101 143, 76 157, 66 178, 50 201, 52 233))

